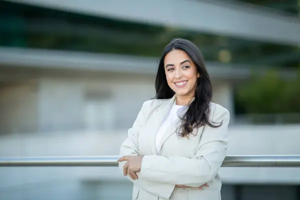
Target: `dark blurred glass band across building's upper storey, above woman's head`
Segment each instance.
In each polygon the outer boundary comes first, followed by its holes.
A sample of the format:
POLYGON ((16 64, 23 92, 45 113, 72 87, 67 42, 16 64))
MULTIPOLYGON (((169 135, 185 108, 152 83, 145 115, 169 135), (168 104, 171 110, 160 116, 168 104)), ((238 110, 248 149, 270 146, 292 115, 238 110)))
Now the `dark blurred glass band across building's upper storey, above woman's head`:
POLYGON ((183 37, 192 40, 209 61, 300 65, 298 44, 269 43, 5 1, 0 4, 1 46, 159 56, 170 39, 183 37))

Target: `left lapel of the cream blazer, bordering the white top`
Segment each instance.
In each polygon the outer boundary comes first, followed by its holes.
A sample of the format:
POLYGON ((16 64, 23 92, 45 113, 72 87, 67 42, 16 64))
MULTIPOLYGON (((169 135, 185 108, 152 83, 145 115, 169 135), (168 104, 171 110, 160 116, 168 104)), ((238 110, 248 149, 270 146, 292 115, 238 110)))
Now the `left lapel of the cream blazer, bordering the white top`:
POLYGON ((175 95, 164 101, 156 111, 153 112, 153 115, 151 117, 151 119, 148 121, 148 123, 150 124, 150 128, 151 128, 151 133, 149 134, 150 138, 149 138, 149 145, 151 148, 151 151, 153 154, 157 155, 157 148, 155 145, 155 138, 156 138, 156 134, 157 131, 159 130, 159 127, 161 126, 162 122, 164 121, 166 114, 168 113, 168 111, 171 109, 171 106, 175 100, 175 95))

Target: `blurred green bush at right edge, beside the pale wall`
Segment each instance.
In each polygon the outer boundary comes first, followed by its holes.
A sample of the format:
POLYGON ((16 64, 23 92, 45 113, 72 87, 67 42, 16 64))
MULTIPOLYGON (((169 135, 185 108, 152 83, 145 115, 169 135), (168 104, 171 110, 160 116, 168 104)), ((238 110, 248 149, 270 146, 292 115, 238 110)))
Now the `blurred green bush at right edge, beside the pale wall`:
POLYGON ((269 70, 253 74, 251 80, 236 90, 236 102, 246 113, 300 112, 300 68, 296 78, 282 78, 269 70))

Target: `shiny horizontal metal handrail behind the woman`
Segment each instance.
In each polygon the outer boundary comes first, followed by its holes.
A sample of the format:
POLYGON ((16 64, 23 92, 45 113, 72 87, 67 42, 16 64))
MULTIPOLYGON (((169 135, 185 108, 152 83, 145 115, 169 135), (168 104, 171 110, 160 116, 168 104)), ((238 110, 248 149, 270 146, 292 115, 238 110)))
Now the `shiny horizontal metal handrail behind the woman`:
MULTIPOLYGON (((118 166, 119 156, 0 157, 9 166, 118 166)), ((222 167, 300 167, 300 155, 227 155, 222 167)))

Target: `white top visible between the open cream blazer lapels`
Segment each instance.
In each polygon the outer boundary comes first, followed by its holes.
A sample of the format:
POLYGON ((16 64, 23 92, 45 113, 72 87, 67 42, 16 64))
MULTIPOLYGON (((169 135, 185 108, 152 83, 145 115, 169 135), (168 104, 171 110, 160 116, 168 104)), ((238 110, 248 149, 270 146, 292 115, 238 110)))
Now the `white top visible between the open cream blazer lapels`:
POLYGON ((160 143, 162 135, 165 133, 166 129, 170 126, 170 124, 179 118, 178 114, 180 114, 182 116, 182 114, 184 112, 182 112, 181 110, 179 110, 179 112, 178 112, 178 109, 180 109, 182 107, 185 107, 185 106, 184 105, 176 105, 175 103, 173 103, 171 109, 166 114, 161 126, 159 127, 159 129, 156 133, 156 138, 155 138, 155 145, 156 145, 156 149, 157 149, 158 153, 159 153, 159 143, 160 143))

